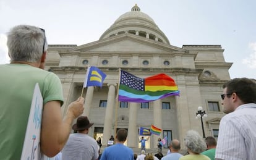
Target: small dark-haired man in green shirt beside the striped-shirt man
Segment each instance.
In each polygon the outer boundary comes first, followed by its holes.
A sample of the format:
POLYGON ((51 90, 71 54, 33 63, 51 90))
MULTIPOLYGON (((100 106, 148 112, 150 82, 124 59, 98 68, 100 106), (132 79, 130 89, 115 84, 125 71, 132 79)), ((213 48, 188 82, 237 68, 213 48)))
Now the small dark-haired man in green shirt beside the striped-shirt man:
POLYGON ((205 143, 207 143, 207 150, 203 151, 201 154, 208 156, 211 160, 215 159, 215 149, 216 149, 216 140, 214 137, 207 137, 205 138, 205 143))

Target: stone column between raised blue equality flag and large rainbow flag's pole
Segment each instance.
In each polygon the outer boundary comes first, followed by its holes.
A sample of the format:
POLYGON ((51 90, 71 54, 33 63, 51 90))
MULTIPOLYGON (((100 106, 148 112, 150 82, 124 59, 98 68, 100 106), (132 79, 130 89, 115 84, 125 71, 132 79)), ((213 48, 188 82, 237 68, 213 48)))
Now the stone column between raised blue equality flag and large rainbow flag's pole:
POLYGON ((111 136, 111 131, 113 128, 113 113, 114 113, 114 101, 115 101, 115 90, 116 90, 116 83, 109 83, 108 84, 108 99, 107 99, 107 106, 106 106, 106 113, 105 113, 105 122, 104 122, 104 130, 103 130, 103 141, 102 145, 107 145, 108 140, 111 136))

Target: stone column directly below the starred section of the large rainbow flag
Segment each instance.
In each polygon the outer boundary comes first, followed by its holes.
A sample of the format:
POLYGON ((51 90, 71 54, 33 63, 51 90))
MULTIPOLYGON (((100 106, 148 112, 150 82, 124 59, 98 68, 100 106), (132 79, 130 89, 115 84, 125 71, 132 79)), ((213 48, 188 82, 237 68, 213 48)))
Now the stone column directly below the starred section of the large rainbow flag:
POLYGON ((129 103, 129 126, 127 146, 138 147, 137 110, 139 103, 129 103))

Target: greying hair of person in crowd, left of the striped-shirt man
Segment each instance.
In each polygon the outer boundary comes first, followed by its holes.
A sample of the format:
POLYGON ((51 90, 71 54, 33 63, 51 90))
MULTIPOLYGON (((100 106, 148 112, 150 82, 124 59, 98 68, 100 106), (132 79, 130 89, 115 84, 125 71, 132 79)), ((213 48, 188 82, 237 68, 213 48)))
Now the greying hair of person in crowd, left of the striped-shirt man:
POLYGON ((205 141, 195 130, 189 130, 187 132, 185 145, 192 153, 202 153, 207 149, 205 141))

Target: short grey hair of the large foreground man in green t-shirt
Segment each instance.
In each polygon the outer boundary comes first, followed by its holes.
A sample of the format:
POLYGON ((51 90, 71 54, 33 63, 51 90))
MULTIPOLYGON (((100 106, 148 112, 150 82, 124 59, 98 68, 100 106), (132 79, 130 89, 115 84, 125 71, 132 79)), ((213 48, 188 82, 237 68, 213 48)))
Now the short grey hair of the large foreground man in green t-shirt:
POLYGON ((7 47, 11 62, 38 62, 48 44, 43 29, 31 25, 17 25, 7 34, 7 47))

